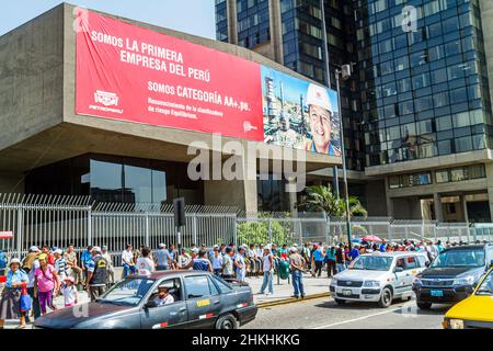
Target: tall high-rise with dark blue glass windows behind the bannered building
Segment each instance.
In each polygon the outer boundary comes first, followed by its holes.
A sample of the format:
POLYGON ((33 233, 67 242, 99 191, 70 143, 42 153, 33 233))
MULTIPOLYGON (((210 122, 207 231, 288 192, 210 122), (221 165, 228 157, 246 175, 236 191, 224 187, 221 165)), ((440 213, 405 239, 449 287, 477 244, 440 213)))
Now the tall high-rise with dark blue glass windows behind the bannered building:
POLYGON ((370 215, 493 220, 491 1, 217 0, 216 12, 219 41, 320 82, 354 64, 342 87, 349 192, 370 215))

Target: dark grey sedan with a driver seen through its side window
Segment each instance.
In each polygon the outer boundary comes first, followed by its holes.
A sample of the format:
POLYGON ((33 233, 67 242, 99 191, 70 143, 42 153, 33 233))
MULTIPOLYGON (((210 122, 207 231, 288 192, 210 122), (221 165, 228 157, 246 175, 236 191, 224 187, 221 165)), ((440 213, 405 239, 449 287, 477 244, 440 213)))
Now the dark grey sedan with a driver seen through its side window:
POLYGON ((55 310, 36 319, 49 329, 234 329, 256 316, 248 284, 226 282, 207 272, 164 271, 131 275, 96 302, 55 310), (174 303, 157 306, 158 287, 168 287, 174 303))

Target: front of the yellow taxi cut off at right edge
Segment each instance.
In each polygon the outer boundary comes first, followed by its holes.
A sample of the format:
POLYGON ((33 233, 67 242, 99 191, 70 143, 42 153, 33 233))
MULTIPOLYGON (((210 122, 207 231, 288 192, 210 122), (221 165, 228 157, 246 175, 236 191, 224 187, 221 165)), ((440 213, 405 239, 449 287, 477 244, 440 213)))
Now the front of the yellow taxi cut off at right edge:
POLYGON ((445 315, 445 329, 493 329, 493 267, 468 298, 445 315))

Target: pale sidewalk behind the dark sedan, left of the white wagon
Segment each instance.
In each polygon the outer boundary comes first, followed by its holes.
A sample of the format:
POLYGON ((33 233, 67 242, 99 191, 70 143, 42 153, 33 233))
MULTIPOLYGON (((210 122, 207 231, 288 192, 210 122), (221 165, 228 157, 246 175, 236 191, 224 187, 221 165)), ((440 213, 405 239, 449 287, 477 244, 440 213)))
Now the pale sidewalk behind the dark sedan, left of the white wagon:
MULTIPOLYGON (((253 301, 256 305, 267 306, 270 304, 296 301, 295 298, 291 298, 294 294, 291 281, 289 280, 288 282, 287 280, 279 280, 279 284, 277 284, 277 275, 274 275, 273 281, 274 294, 268 296, 266 294, 259 294, 262 287, 262 276, 246 278, 246 283, 249 283, 252 287, 252 292, 254 294, 253 301)), ((306 298, 309 298, 310 296, 318 296, 321 294, 329 294, 330 283, 331 280, 328 279, 324 274, 322 274, 321 278, 312 278, 311 274, 303 274, 306 298)))

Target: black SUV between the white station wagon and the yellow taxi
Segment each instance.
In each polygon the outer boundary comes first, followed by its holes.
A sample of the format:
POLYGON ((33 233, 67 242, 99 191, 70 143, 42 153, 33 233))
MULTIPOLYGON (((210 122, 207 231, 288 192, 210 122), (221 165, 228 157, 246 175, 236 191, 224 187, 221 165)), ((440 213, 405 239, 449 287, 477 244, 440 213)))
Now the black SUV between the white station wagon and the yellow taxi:
POLYGON ((457 303, 468 297, 493 260, 493 245, 466 245, 446 249, 413 282, 421 309, 457 303))

